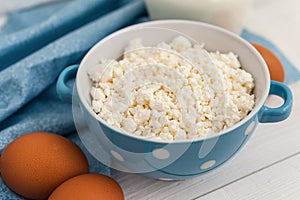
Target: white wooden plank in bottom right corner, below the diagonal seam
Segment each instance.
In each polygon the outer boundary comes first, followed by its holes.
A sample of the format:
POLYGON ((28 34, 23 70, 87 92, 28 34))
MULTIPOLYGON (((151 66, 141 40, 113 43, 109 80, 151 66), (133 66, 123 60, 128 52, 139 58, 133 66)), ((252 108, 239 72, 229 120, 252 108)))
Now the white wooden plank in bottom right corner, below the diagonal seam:
POLYGON ((197 200, 299 200, 300 154, 197 200))

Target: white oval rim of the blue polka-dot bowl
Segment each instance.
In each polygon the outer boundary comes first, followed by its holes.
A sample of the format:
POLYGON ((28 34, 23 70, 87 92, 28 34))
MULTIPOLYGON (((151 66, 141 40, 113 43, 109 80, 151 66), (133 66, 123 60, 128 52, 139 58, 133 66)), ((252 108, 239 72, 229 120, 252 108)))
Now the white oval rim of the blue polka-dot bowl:
MULTIPOLYGON (((240 120, 239 122, 237 122, 236 124, 234 124, 233 126, 222 130, 219 133, 216 133, 214 135, 210 135, 207 137, 202 137, 202 138, 195 138, 195 139, 185 139, 185 140, 173 140, 173 141, 165 141, 165 140, 159 140, 159 139, 153 139, 153 138, 145 138, 143 136, 137 136, 137 135, 133 135, 130 133, 126 133, 125 131, 119 131, 117 128, 107 124, 107 122, 105 122, 103 119, 101 119, 99 116, 96 115, 96 113, 92 110, 91 106, 86 102, 86 101, 82 101, 82 99, 84 99, 82 97, 82 94, 79 93, 78 89, 78 96, 80 99, 80 102, 84 105, 85 109, 89 112, 89 114, 94 117, 97 121, 101 122, 103 125, 105 125, 106 127, 112 129, 113 131, 122 134, 126 137, 130 137, 132 139, 138 139, 141 141, 146 141, 146 142, 153 142, 153 143, 157 143, 157 144, 180 144, 180 143, 194 143, 194 142, 201 142, 204 140, 208 140, 208 139, 213 139, 216 137, 221 137, 222 135, 225 135, 235 129, 237 129, 238 127, 242 126, 243 124, 245 124, 246 122, 248 122, 250 119, 252 119, 253 117, 255 117, 255 115, 258 115, 258 112, 260 111, 260 109, 264 106, 264 103, 269 95, 269 90, 270 90, 270 75, 269 75, 269 71, 268 71, 268 67, 266 62, 264 61, 263 57, 259 54, 259 52, 245 39, 243 39, 242 37, 240 37, 239 35, 226 30, 224 28, 215 26, 215 25, 211 25, 208 23, 204 23, 204 22, 199 22, 199 21, 192 21, 192 20, 177 20, 177 19, 169 19, 169 20, 155 20, 155 21, 148 21, 148 22, 143 22, 140 24, 135 24, 135 25, 131 25, 128 27, 125 27, 123 29, 120 29, 116 32, 113 32, 112 34, 106 36, 105 38, 101 39, 100 41, 98 41, 84 56, 84 58, 82 59, 80 65, 79 65, 79 69, 78 72, 80 72, 81 70, 81 66, 82 63, 85 62, 85 60, 87 60, 89 58, 89 55, 95 51, 95 49, 98 48, 98 46, 100 46, 102 43, 106 42, 107 40, 109 40, 110 38, 116 37, 118 34, 122 33, 122 32, 126 32, 126 31, 132 31, 135 29, 141 29, 141 28, 148 28, 148 27, 157 27, 157 28, 161 28, 160 25, 164 25, 164 24, 191 24, 191 25, 195 25, 195 26, 199 26, 202 28, 207 28, 207 29, 211 29, 213 31, 218 31, 221 32, 222 34, 226 34, 227 36, 235 39, 236 41, 238 41, 239 43, 242 43, 246 48, 248 48, 258 59, 258 61, 261 63, 261 66, 263 67, 263 71, 264 71, 264 78, 266 80, 266 83, 268 83, 265 86, 265 90, 264 93, 261 94, 261 98, 258 102, 255 103, 254 108, 250 111, 250 113, 243 118, 242 120, 240 120), (150 26, 148 26, 150 25, 150 26), (151 25, 155 25, 155 26, 151 26, 151 25)), ((176 30, 175 30, 176 31, 176 30)), ((180 31, 179 31, 180 32, 180 31)), ((80 73, 77 72, 76 75, 76 86, 79 84, 78 82, 78 76, 80 73)))

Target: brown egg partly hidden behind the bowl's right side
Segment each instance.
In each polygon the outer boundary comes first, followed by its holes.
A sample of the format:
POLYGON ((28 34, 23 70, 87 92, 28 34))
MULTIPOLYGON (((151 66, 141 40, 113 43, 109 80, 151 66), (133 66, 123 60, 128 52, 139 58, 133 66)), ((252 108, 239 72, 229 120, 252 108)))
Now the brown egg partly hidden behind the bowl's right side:
POLYGON ((266 61, 272 80, 284 82, 284 69, 280 60, 266 47, 251 43, 266 61))

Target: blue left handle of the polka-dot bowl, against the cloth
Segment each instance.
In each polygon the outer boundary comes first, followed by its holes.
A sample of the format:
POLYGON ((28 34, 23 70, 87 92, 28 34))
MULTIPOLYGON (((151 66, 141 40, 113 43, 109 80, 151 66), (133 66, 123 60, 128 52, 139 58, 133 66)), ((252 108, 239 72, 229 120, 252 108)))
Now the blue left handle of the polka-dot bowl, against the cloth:
POLYGON ((59 75, 56 82, 56 92, 63 101, 72 102, 73 87, 67 84, 68 80, 74 79, 79 65, 71 65, 65 68, 59 75))

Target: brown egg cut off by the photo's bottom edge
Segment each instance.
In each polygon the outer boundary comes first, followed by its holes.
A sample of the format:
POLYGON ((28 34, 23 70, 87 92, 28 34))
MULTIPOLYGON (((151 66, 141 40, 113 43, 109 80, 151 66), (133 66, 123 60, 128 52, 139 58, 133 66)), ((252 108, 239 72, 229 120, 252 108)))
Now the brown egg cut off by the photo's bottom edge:
POLYGON ((50 195, 48 200, 123 200, 120 185, 101 174, 84 174, 73 177, 50 195))

